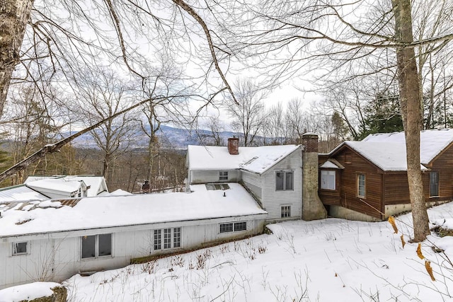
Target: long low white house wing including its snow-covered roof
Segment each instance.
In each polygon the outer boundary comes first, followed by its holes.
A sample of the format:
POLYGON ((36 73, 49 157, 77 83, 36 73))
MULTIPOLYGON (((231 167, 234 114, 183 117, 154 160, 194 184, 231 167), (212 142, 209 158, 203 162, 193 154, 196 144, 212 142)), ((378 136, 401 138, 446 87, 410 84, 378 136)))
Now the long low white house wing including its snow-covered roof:
POLYGON ((0 204, 0 289, 263 231, 268 214, 241 185, 190 189, 0 204))

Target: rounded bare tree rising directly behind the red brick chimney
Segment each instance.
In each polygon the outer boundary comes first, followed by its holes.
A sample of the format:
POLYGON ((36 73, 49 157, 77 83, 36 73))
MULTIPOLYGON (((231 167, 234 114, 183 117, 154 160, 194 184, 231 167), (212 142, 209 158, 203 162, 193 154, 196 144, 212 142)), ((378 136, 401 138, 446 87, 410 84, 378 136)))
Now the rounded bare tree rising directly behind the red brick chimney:
POLYGON ((234 85, 236 100, 229 98, 226 110, 232 118, 231 127, 243 135, 243 146, 253 146, 265 121, 263 98, 265 93, 250 79, 238 80, 234 85))

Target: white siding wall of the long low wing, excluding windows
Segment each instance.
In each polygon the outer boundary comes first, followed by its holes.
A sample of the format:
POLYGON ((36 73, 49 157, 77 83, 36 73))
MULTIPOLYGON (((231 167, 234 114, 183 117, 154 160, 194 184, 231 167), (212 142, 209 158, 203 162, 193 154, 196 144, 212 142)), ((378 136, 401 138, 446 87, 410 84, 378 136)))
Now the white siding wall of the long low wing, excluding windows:
POLYGON ((0 272, 8 274, 0 273, 0 289, 38 279, 61 282, 79 272, 125 267, 135 257, 191 250, 207 244, 245 238, 261 233, 264 221, 265 215, 261 214, 3 238, 0 242, 0 272), (220 223, 235 221, 246 221, 247 230, 219 233, 220 223), (175 227, 181 228, 181 248, 154 250, 154 230, 175 227), (102 233, 112 233, 112 257, 81 260, 81 237, 102 233), (12 243, 23 241, 28 241, 30 252, 28 255, 13 256, 12 243))

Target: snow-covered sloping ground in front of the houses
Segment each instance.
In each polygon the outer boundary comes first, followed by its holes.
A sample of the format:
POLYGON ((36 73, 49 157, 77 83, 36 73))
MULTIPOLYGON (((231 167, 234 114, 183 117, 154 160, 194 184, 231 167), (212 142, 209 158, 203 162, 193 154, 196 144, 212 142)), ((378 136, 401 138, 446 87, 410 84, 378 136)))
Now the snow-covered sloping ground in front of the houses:
MULTIPOLYGON (((453 227, 453 203, 428 214, 453 227)), ((453 237, 429 236, 422 260, 418 244, 407 243, 411 214, 396 226, 398 233, 386 221, 277 223, 270 235, 76 275, 64 285, 69 301, 453 301, 453 237)))

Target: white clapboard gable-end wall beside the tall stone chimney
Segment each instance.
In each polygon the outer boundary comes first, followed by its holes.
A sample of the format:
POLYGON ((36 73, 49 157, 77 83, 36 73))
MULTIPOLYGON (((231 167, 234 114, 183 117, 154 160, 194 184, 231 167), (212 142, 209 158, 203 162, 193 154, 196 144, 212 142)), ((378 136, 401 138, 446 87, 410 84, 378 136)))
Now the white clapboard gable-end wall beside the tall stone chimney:
POLYGON ((281 207, 291 206, 291 216, 287 219, 300 219, 302 216, 302 150, 298 149, 263 174, 263 197, 261 203, 268 211, 268 221, 286 220, 281 217, 281 207), (275 190, 275 173, 282 170, 294 172, 293 190, 275 190))

